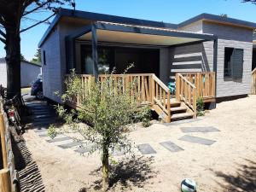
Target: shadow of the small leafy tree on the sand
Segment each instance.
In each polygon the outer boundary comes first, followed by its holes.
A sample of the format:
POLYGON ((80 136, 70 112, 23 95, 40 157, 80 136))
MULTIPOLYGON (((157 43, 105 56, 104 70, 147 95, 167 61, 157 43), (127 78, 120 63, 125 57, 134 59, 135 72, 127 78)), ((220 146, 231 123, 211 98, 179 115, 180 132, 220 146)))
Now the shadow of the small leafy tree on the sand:
MULTIPOLYGON (((110 167, 110 184, 109 190, 117 189, 117 191, 127 189, 131 191, 132 187, 143 188, 144 184, 152 177, 156 177, 158 172, 154 171, 152 164, 153 157, 136 157, 124 158, 110 167)), ((101 177, 101 167, 90 175, 101 177)), ((102 179, 96 180, 88 188, 80 189, 79 192, 95 191, 102 189, 102 179)))

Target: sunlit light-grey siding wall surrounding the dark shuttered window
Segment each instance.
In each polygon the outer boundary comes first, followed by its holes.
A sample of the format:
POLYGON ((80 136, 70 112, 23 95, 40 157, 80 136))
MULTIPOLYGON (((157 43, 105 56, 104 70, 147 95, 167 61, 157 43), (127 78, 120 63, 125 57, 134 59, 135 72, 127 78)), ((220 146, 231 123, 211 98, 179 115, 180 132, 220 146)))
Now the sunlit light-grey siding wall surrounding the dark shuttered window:
MULTIPOLYGON (((203 22, 203 32, 212 33, 218 36, 217 97, 248 94, 251 85, 253 30, 203 22), (242 79, 224 79, 225 47, 244 49, 242 79)), ((207 57, 210 58, 212 57, 213 46, 208 47, 208 44, 209 43, 204 43, 204 48, 207 57)))

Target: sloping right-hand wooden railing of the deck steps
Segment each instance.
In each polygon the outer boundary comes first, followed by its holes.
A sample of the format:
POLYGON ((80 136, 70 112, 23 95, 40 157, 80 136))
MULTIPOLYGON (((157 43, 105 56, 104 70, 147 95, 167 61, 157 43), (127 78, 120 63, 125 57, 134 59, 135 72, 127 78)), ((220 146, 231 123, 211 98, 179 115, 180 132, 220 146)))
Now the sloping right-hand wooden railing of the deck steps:
POLYGON ((176 73, 176 99, 178 102, 183 101, 191 108, 196 115, 196 98, 197 89, 189 79, 183 77, 181 73, 176 73))

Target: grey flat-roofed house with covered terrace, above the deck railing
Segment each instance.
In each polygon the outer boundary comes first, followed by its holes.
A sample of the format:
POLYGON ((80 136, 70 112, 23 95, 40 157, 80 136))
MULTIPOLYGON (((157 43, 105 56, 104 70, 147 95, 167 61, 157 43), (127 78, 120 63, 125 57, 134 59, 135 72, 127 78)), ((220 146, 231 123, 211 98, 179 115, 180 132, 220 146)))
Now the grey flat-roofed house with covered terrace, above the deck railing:
POLYGON ((202 14, 180 24, 61 9, 38 46, 44 96, 61 102, 66 73, 155 73, 165 84, 175 73, 216 72, 216 98, 250 92, 255 23, 202 14), (96 57, 98 55, 98 57, 96 57), (102 59, 104 58, 104 59, 102 59))

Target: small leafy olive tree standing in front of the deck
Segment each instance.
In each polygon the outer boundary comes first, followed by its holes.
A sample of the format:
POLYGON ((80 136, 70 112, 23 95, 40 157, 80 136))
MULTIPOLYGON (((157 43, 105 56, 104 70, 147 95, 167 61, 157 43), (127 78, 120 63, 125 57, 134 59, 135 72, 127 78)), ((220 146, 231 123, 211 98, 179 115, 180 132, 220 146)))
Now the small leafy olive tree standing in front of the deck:
MULTIPOLYGON (((91 145, 91 153, 100 151, 102 156, 102 186, 108 189, 109 157, 114 149, 129 152, 131 142, 127 138, 127 125, 148 118, 148 108, 138 109, 137 95, 131 91, 136 80, 124 86, 123 79, 113 80, 109 75, 103 81, 91 78, 87 83, 72 73, 66 80, 67 91, 61 96, 69 102, 76 96, 80 106, 77 111, 57 107, 59 115, 67 125, 61 128, 50 126, 49 135, 72 133, 74 140, 91 145), (83 122, 84 124, 81 124, 83 122)), ((135 92, 135 91, 134 91, 135 92)))

